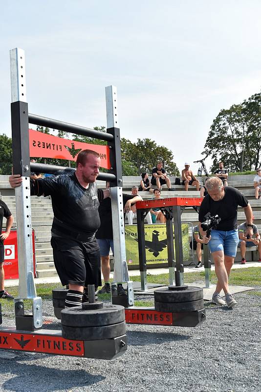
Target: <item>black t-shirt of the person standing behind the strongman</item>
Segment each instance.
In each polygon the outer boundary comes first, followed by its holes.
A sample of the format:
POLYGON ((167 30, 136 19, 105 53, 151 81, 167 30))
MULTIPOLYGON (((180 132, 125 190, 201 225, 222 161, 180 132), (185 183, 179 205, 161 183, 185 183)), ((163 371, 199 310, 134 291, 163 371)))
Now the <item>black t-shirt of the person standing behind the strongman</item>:
MULTIPOLYGON (((126 202, 132 199, 133 195, 122 194, 123 198, 123 206, 125 206, 126 202)), ((101 220, 101 225, 97 230, 95 237, 99 240, 104 239, 112 239, 113 238, 113 230, 112 230, 112 213, 111 213, 111 200, 110 197, 107 197, 103 201, 100 202, 99 206, 99 215, 101 220)), ((125 214, 124 214, 125 218, 125 214)))

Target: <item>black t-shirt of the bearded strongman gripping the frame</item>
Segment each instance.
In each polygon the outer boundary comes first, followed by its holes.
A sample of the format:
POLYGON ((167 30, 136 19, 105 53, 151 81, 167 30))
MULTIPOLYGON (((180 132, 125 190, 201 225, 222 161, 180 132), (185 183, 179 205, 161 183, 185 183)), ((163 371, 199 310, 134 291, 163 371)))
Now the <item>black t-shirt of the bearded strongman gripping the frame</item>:
POLYGON ((103 191, 97 190, 96 182, 89 183, 88 189, 85 189, 75 173, 39 178, 31 180, 31 195, 51 196, 56 218, 53 227, 57 229, 60 225, 91 237, 100 226, 98 208, 99 201, 103 200, 103 191))

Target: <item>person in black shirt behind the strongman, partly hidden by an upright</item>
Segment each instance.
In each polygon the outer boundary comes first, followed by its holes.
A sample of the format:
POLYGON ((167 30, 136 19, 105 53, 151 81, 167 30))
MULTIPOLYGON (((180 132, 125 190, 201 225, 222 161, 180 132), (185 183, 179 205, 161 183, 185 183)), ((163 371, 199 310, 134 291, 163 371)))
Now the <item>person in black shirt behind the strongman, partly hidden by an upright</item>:
MULTIPOLYGON (((109 182, 107 182, 106 187, 109 188, 109 182)), ((123 194, 122 198, 123 198, 123 205, 124 205, 124 213, 131 211, 131 205, 135 204, 137 201, 142 201, 142 197, 139 195, 134 196, 134 195, 123 194)), ((110 293, 110 285, 109 285, 109 273, 110 273, 109 249, 110 248, 112 254, 114 255, 112 212, 111 212, 110 197, 104 199, 100 203, 99 215, 100 215, 101 225, 97 230, 95 237, 97 238, 98 244, 100 246, 102 273, 104 278, 104 286, 99 291, 99 294, 105 294, 105 293, 110 293)), ((117 291, 118 291, 118 295, 127 295, 123 289, 122 284, 118 284, 117 291)))

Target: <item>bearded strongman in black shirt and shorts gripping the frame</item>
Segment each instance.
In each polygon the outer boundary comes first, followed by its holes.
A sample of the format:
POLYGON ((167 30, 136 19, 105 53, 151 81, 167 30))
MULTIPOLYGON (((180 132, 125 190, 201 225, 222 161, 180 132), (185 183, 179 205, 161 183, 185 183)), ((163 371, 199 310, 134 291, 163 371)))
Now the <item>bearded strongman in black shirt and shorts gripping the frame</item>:
MULTIPOLYGON (((54 213, 51 245, 55 268, 63 286, 69 285, 65 307, 87 301, 87 285, 101 286, 100 250, 95 233, 100 226, 99 201, 109 191, 97 190, 100 155, 82 150, 76 171, 30 180, 31 195, 51 196, 54 213)), ((12 188, 21 185, 19 174, 11 175, 12 188)))

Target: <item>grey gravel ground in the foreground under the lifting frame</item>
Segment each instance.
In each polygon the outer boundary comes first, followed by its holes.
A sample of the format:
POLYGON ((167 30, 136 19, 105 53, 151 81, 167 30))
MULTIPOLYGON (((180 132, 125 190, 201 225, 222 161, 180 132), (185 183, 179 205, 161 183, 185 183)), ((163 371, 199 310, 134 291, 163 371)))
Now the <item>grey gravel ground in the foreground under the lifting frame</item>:
MULTIPOLYGON (((235 294, 232 310, 206 302, 206 321, 196 328, 127 325, 128 350, 112 361, 0 350, 0 391, 261 391, 255 291, 235 294)), ((59 328, 51 301, 43 301, 43 317, 59 328)))

